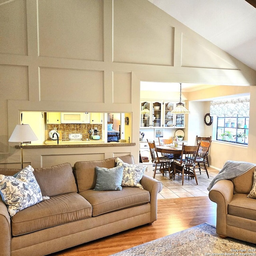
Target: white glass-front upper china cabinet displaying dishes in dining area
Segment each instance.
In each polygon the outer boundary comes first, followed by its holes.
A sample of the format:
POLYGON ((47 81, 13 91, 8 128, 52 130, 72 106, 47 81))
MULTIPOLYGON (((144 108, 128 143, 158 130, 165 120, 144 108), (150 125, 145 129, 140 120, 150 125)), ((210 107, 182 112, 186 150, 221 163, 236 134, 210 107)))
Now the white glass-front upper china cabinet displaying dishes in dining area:
POLYGON ((185 128, 185 115, 172 114, 178 102, 141 101, 140 128, 185 128))

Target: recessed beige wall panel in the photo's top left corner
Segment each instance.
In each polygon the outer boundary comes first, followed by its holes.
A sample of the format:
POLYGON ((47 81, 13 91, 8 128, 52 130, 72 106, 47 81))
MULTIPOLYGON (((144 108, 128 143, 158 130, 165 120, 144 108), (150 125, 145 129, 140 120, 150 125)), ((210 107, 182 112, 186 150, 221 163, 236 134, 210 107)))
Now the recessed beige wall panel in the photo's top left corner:
POLYGON ((27 55, 26 0, 0 1, 0 53, 27 55))

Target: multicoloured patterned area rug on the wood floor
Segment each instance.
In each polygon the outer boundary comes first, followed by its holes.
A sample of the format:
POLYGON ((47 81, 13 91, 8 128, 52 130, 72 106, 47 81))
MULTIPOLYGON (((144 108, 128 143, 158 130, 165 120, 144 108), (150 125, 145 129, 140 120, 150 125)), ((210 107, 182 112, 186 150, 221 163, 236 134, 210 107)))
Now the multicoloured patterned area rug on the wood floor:
POLYGON ((204 223, 112 256, 256 255, 256 244, 219 238, 216 227, 204 223))

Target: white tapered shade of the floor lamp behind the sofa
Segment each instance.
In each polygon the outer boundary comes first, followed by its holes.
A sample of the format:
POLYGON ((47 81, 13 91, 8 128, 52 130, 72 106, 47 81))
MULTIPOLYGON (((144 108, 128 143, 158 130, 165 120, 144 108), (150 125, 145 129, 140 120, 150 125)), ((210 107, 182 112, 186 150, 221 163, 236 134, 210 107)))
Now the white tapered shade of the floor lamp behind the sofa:
POLYGON ((38 138, 36 137, 36 134, 34 134, 29 124, 17 124, 8 141, 27 142, 34 140, 38 140, 38 138))

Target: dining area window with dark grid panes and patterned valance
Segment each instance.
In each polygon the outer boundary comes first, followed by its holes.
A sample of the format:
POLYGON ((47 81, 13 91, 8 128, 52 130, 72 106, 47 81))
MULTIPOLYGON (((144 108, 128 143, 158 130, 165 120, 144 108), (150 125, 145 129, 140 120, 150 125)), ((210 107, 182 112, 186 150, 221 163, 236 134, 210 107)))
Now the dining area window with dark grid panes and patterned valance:
POLYGON ((216 140, 248 145, 249 110, 248 96, 211 102, 210 114, 217 116, 216 140))

